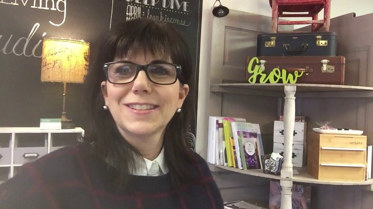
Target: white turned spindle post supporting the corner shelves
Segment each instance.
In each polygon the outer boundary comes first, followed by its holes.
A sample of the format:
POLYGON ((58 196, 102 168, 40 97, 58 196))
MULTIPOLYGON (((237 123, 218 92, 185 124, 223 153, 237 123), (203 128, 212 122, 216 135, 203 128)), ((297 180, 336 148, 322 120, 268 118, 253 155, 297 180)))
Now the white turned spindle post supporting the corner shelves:
MULTIPOLYGON (((295 91, 297 86, 284 86, 285 103, 283 109, 283 129, 284 129, 284 152, 283 164, 281 168, 281 177, 292 179, 293 164, 292 160, 292 145, 293 132, 295 121, 295 91)), ((291 189, 292 181, 281 180, 281 209, 291 209, 291 189)))

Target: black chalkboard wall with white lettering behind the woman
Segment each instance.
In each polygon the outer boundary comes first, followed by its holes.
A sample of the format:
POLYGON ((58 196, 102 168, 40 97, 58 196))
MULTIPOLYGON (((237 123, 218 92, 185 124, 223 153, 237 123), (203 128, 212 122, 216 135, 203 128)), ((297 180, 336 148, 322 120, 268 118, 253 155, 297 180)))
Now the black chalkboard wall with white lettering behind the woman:
MULTIPOLYGON (((92 64, 100 34, 133 18, 170 22, 184 33, 198 84, 201 8, 202 0, 0 0, 0 127, 38 127, 40 118, 61 117, 63 84, 40 81, 43 38, 89 42, 92 64)), ((66 111, 85 128, 82 87, 67 84, 66 111)))

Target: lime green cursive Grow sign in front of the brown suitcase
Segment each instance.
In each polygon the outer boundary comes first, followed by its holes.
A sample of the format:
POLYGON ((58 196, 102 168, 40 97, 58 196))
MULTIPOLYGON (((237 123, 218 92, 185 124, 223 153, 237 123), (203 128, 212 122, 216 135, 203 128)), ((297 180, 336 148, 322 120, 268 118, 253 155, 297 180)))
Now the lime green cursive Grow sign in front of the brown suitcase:
POLYGON ((259 60, 257 57, 253 57, 248 66, 247 66, 247 71, 248 73, 250 74, 253 74, 250 76, 250 78, 248 78, 248 82, 249 83, 256 83, 256 79, 258 76, 260 76, 259 78, 259 83, 267 83, 269 81, 269 83, 278 83, 278 81, 281 79, 282 80, 282 83, 296 83, 297 82, 297 78, 301 77, 303 75, 303 71, 298 74, 298 71, 294 71, 294 77, 292 74, 287 74, 286 70, 285 69, 282 69, 282 71, 280 71, 279 68, 274 68, 270 73, 269 75, 266 75, 263 73, 263 68, 259 67, 259 65, 257 65, 259 63, 259 60), (255 64, 255 67, 253 69, 253 62, 256 61, 256 64, 255 64), (275 80, 276 79, 276 80, 275 80))

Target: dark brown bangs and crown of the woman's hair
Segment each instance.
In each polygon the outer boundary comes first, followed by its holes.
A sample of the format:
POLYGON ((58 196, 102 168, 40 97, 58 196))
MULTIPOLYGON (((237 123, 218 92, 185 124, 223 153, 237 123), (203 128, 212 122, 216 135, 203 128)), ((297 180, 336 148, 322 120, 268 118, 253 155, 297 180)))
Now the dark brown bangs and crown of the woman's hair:
POLYGON ((108 35, 100 51, 101 66, 116 58, 131 60, 137 56, 152 56, 156 60, 181 65, 179 80, 183 84, 190 81, 193 68, 188 44, 171 25, 138 18, 117 25, 108 35))

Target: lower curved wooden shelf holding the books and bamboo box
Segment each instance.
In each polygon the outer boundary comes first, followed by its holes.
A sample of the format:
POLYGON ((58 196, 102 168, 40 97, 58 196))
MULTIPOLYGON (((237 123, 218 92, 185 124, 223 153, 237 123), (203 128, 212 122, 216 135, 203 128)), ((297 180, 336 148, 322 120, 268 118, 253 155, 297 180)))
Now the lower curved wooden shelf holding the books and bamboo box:
POLYGON ((277 179, 277 180, 288 180, 299 183, 310 183, 310 184, 329 184, 329 185, 371 185, 373 184, 373 179, 366 181, 332 181, 332 180, 317 180, 314 177, 310 176, 307 173, 306 167, 298 168, 293 167, 293 170, 297 170, 299 174, 293 174, 292 178, 282 178, 281 176, 275 176, 271 174, 263 173, 263 170, 241 170, 239 168, 228 167, 224 165, 209 165, 210 170, 212 171, 232 171, 235 173, 242 173, 250 176, 263 177, 268 179, 277 179), (216 168, 214 168, 216 167, 216 168))

